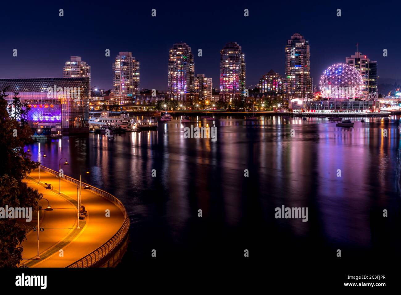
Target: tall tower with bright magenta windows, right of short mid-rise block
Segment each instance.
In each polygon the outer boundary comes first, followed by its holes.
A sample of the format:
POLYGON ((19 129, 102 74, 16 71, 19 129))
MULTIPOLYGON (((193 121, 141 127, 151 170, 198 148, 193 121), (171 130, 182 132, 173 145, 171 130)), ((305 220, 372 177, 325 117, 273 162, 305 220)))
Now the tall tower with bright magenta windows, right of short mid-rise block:
POLYGON ((220 51, 220 100, 233 102, 245 95, 245 55, 237 42, 220 51))

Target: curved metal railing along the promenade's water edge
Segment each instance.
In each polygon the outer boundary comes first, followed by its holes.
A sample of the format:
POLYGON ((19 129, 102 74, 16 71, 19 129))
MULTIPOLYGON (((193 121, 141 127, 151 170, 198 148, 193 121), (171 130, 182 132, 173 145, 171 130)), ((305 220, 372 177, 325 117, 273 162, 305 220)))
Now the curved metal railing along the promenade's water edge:
MULTIPOLYGON (((54 176, 59 176, 59 172, 51 170, 50 168, 40 166, 41 170, 48 172, 50 174, 53 174, 54 176)), ((71 182, 77 186, 79 186, 79 180, 76 180, 75 178, 69 177, 64 175, 62 177, 63 180, 71 182)), ((113 202, 117 207, 123 212, 124 214, 124 222, 120 229, 103 245, 101 245, 99 248, 96 250, 92 251, 85 257, 75 261, 74 263, 70 264, 68 267, 91 267, 104 257, 106 257, 111 251, 116 249, 121 242, 123 242, 124 238, 127 235, 128 229, 130 228, 130 218, 127 215, 126 208, 122 204, 120 200, 118 200, 115 196, 112 194, 109 194, 108 192, 105 192, 104 190, 101 190, 99 188, 96 188, 95 186, 91 186, 89 184, 81 182, 81 188, 85 188, 85 186, 89 186, 89 189, 91 192, 94 194, 97 194, 103 198, 106 198, 107 200, 113 202)))

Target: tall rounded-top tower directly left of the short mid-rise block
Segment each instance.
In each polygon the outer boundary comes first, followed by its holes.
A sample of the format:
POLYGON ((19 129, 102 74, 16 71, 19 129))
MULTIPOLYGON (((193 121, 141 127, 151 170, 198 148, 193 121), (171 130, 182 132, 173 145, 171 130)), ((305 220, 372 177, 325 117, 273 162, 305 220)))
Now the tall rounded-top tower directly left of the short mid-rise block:
POLYGON ((184 42, 170 48, 167 69, 167 93, 170 99, 192 103, 195 83, 194 55, 184 42))

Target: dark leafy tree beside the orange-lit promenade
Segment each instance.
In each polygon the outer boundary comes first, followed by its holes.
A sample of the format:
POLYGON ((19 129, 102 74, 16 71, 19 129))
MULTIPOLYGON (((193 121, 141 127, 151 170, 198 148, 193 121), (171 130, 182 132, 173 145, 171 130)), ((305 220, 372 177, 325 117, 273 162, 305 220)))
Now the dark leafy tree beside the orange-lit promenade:
MULTIPOLYGON (((0 207, 36 208, 42 195, 23 181, 39 165, 24 151, 25 145, 32 143, 27 122, 30 108, 21 102, 18 93, 8 106, 7 89, 0 91, 0 207)), ((26 230, 16 221, 0 219, 0 267, 16 267, 22 259, 26 230)))

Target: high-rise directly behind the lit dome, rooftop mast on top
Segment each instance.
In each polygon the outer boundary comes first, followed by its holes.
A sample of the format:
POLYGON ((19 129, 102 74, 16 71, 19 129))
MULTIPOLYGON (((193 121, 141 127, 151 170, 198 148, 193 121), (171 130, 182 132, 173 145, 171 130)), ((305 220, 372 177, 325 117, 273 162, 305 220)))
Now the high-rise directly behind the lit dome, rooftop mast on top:
POLYGON ((371 61, 366 55, 356 52, 355 55, 346 57, 345 63, 355 67, 362 76, 362 95, 367 98, 368 94, 375 94, 373 96, 377 98, 377 79, 379 78, 377 76, 377 61, 371 61))

